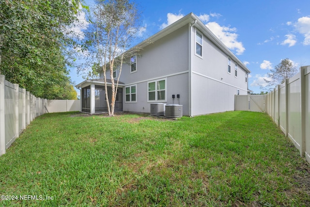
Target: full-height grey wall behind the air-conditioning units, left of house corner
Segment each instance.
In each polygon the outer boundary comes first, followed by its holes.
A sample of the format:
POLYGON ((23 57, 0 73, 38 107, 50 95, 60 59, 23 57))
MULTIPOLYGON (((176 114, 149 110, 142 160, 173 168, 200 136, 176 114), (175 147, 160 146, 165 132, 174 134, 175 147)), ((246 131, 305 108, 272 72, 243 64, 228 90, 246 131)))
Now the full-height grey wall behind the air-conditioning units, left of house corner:
MULTIPOLYGON (((130 60, 123 64, 120 81, 123 87, 123 111, 150 113, 152 103, 183 105, 188 114, 188 25, 141 49, 137 55, 137 72, 130 72, 130 60), (166 101, 148 101, 148 81, 166 79, 166 101), (125 89, 136 85, 136 101, 126 102, 125 89), (180 98, 176 98, 179 94, 180 98)), ((107 77, 109 72, 107 72, 107 77)))

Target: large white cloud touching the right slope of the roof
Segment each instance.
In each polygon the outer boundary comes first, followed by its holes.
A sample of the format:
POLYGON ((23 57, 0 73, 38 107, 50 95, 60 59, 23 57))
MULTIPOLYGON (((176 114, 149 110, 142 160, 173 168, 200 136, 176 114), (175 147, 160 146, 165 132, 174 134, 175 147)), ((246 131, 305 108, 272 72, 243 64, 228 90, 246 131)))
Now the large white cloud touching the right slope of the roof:
POLYGON ((238 34, 236 28, 230 28, 220 26, 217 22, 209 22, 206 26, 213 32, 224 45, 229 49, 234 49, 237 55, 242 54, 245 51, 242 42, 237 41, 238 34))

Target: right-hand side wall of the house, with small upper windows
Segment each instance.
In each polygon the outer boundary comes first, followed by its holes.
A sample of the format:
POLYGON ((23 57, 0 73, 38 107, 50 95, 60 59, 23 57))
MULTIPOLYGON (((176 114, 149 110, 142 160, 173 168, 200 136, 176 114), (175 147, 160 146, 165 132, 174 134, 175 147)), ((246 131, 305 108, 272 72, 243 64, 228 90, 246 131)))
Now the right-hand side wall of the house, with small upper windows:
MULTIPOLYGON (((200 31, 199 31, 200 32, 200 31)), ((202 33, 202 32, 201 32, 202 33)), ((234 110, 234 95, 247 95, 246 71, 231 58, 228 73, 228 55, 202 35, 202 57, 195 54, 196 28, 191 30, 191 115, 234 110)))

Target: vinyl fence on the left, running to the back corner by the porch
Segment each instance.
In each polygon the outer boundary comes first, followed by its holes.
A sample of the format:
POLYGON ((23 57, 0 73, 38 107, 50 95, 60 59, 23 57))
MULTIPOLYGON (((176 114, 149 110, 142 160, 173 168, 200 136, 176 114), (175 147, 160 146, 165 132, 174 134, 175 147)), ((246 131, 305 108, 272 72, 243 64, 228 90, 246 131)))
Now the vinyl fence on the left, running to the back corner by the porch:
POLYGON ((79 111, 79 100, 37 98, 0 75, 0 156, 31 121, 46 112, 79 111))

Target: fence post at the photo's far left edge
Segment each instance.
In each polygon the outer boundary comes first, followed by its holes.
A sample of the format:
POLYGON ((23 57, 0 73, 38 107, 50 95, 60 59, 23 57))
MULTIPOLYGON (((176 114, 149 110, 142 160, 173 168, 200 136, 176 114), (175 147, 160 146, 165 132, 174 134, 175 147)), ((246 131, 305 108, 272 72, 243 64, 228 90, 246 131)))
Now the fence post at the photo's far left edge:
POLYGON ((0 75, 0 155, 5 154, 5 76, 0 75))

